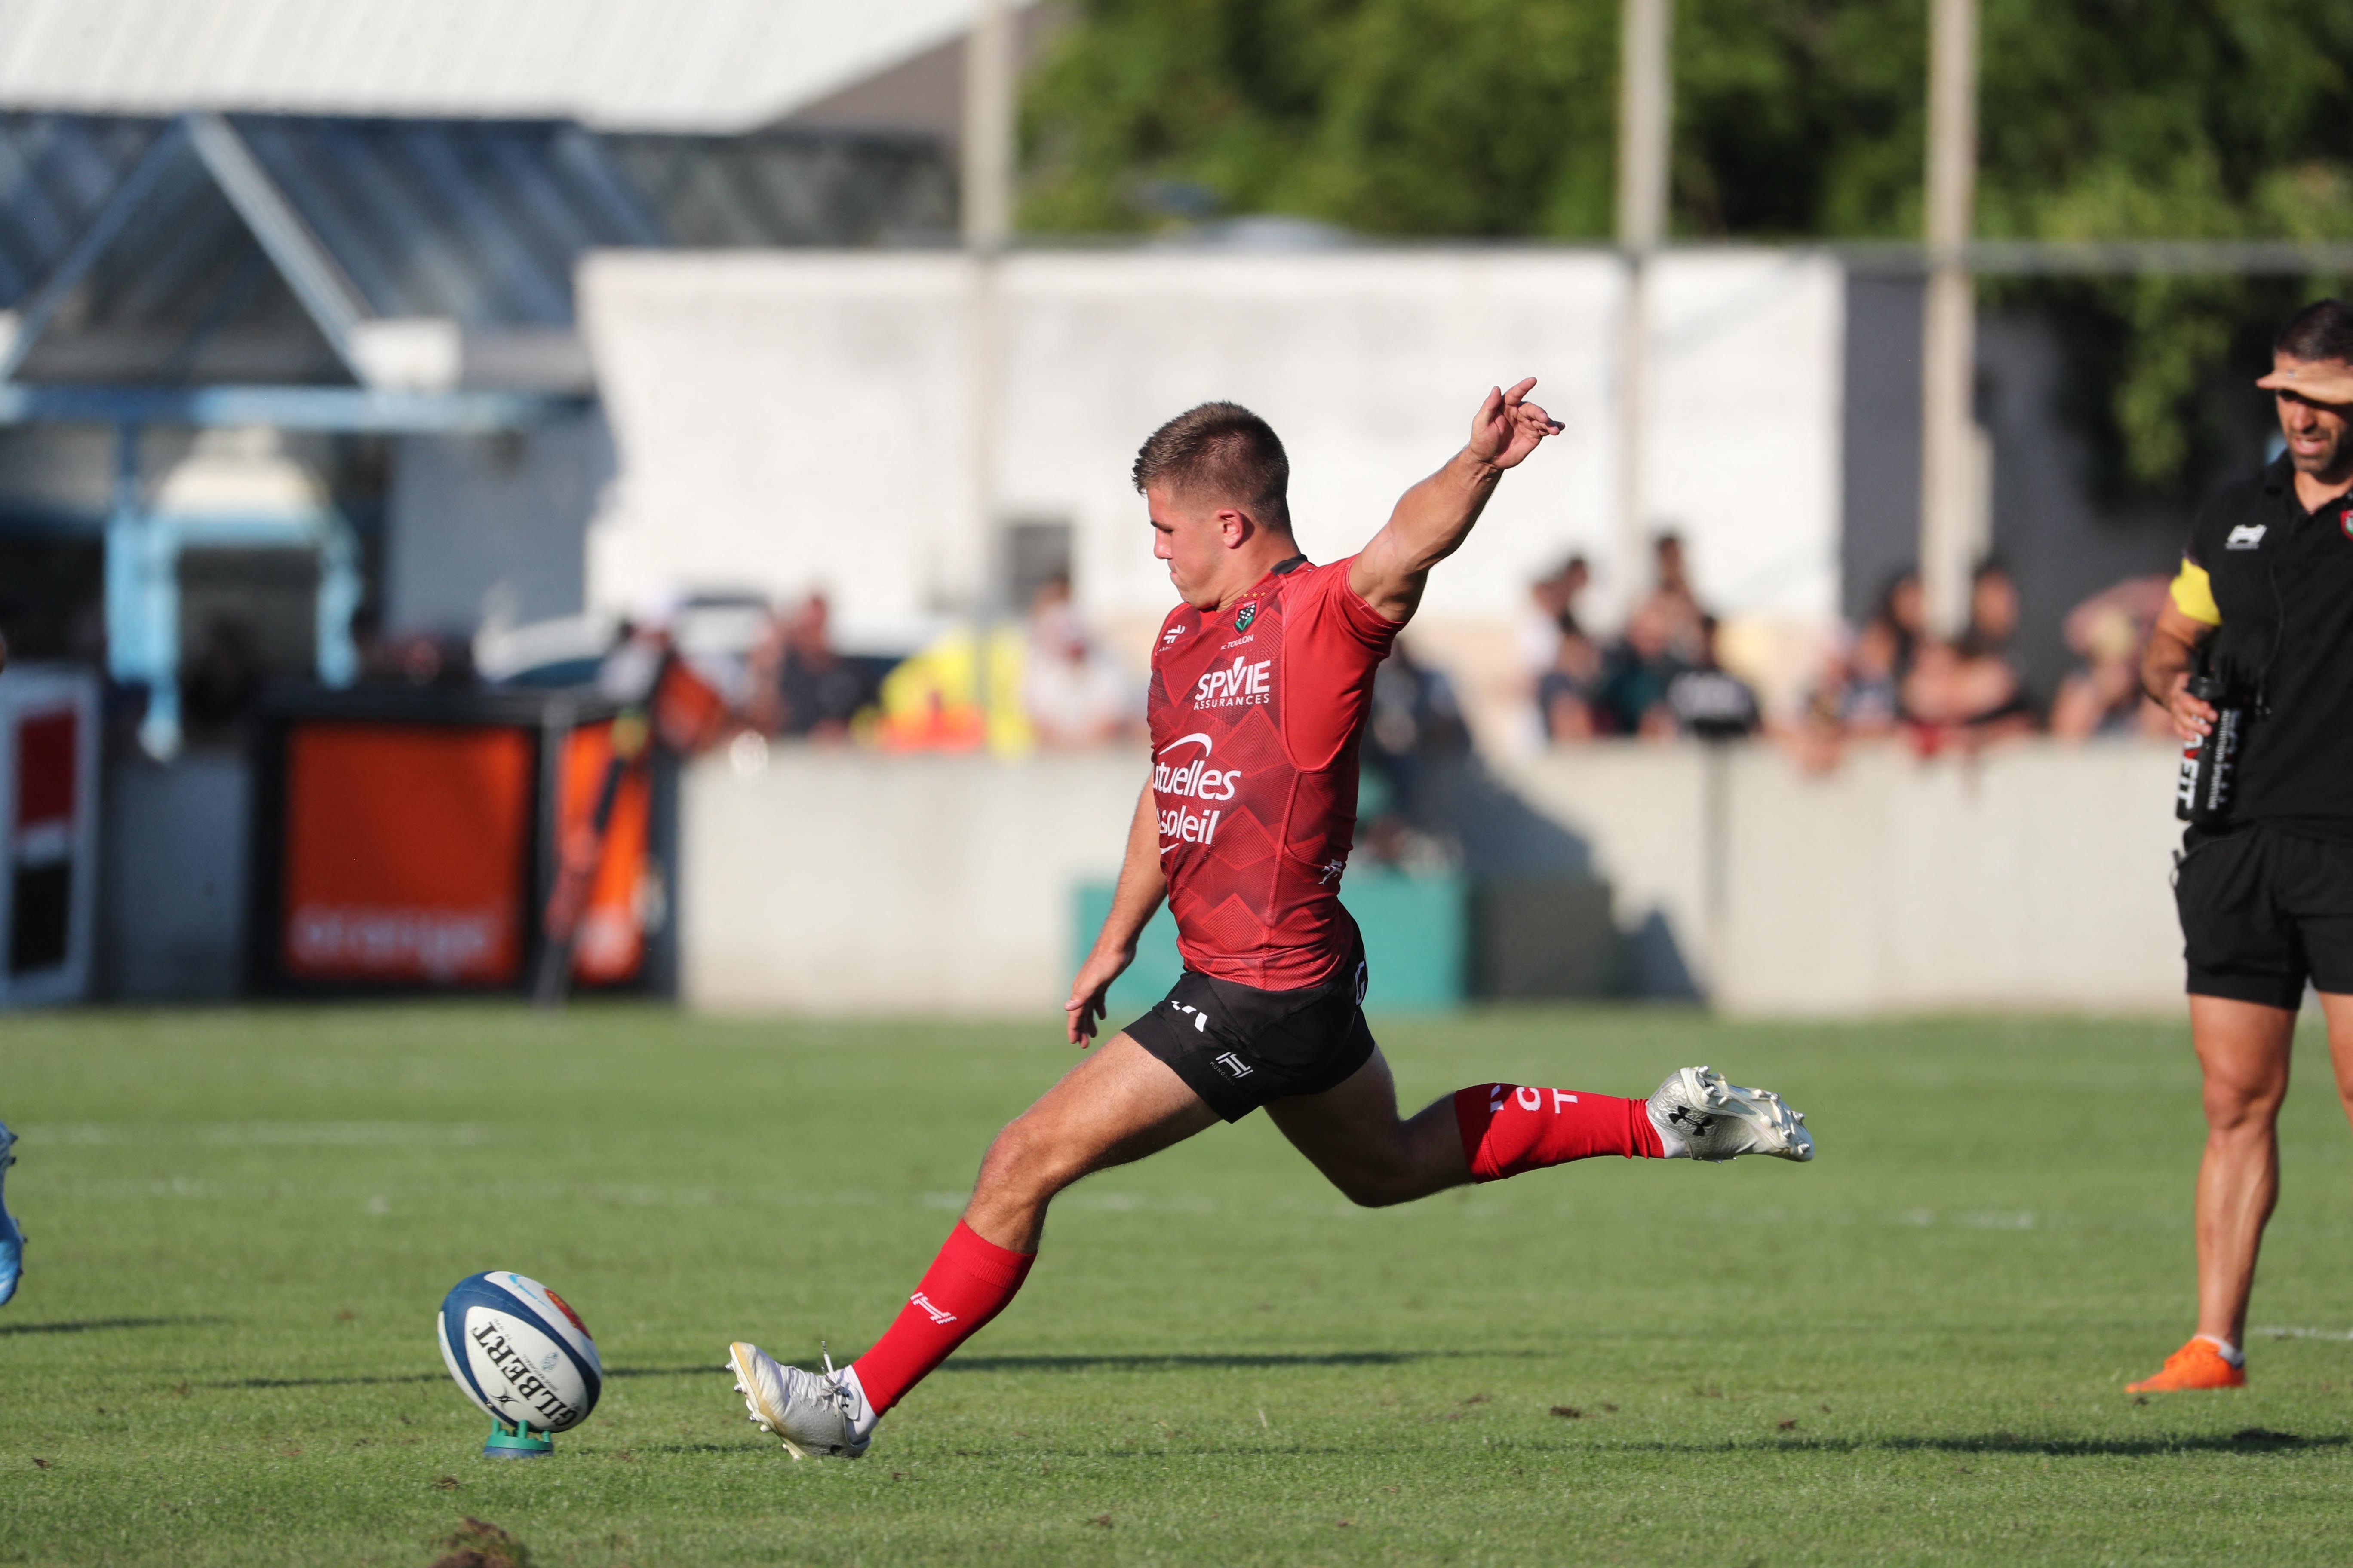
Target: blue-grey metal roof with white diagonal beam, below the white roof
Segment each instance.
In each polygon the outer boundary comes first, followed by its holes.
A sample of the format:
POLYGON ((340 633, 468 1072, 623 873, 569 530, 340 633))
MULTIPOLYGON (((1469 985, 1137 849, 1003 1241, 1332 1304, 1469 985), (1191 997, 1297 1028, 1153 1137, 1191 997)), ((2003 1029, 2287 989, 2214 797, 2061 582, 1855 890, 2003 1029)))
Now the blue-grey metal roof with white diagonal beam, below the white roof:
POLYGON ((376 381, 369 353, 431 357, 416 329, 440 324, 445 357, 464 357, 445 383, 579 388, 572 270, 588 249, 953 226, 953 174, 920 139, 0 115, 0 310, 16 327, 0 378, 376 381))

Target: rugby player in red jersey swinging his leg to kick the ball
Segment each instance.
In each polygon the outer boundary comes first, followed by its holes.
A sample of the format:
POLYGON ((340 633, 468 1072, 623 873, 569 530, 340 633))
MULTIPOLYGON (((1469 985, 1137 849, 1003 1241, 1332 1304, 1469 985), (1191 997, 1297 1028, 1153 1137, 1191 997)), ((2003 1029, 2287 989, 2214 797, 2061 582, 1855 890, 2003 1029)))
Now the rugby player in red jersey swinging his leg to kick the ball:
POLYGON ((1094 1037, 1162 898, 1184 978, 998 1133, 962 1222, 873 1349, 807 1373, 729 1347, 751 1420, 795 1458, 866 1453, 875 1422, 1021 1288, 1056 1192, 1261 1105, 1367 1206, 1595 1154, 1814 1157, 1805 1117, 1706 1067, 1649 1100, 1475 1084, 1400 1119, 1365 1027, 1365 945, 1339 879, 1372 672, 1504 470, 1560 430, 1525 402, 1532 386, 1489 390, 1471 442, 1405 491, 1360 555, 1327 567, 1292 541, 1289 458, 1257 414, 1209 402, 1144 442, 1134 480, 1181 604, 1153 649, 1153 776, 1064 1004, 1071 1041, 1094 1037))

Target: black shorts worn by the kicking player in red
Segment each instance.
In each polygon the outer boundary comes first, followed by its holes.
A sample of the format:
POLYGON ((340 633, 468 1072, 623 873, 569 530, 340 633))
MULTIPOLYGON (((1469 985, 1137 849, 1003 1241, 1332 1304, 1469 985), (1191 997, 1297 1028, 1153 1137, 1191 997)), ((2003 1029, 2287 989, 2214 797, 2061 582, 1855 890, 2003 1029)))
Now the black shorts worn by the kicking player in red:
POLYGON ((1240 1121, 1268 1100, 1339 1088, 1372 1060, 1365 978, 1362 938, 1329 980, 1289 992, 1261 992, 1188 969, 1127 1032, 1209 1110, 1240 1121))

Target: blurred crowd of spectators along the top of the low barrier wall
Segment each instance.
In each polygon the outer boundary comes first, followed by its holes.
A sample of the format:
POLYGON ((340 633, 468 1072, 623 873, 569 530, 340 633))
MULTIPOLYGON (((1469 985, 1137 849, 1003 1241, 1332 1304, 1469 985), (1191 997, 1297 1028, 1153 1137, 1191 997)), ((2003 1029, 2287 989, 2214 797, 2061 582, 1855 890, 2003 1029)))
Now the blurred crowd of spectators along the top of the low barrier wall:
MULTIPOLYGON (((2165 715, 2141 696, 2139 651, 2165 604, 2165 578, 2141 576, 2078 604, 2064 625, 2075 668, 2047 693, 2028 689, 2012 654, 2019 585, 1986 562, 1969 590, 1969 623, 1951 639, 1929 632, 1920 578, 1899 574, 1859 625, 1831 628, 1802 679, 1767 679, 1725 651, 1718 616, 1694 588, 1685 543, 1652 543, 1649 590, 1600 630, 1586 611, 1591 567, 1581 555, 1529 585, 1513 637, 1513 703, 1527 715, 1513 738, 1537 750, 1598 741, 1769 738, 1809 769, 1831 769, 1857 743, 1899 743, 1915 755, 1977 752, 2047 733, 2162 736, 2165 715), (1760 696, 1765 689, 1781 701, 1760 696)), ((835 642, 824 592, 776 607, 755 595, 689 597, 635 621, 581 618, 574 632, 515 635, 522 654, 489 654, 475 639, 386 637, 355 623, 360 679, 391 686, 598 682, 628 701, 656 665, 701 686, 708 719, 680 750, 772 741, 859 745, 880 752, 1082 750, 1144 733, 1144 668, 1089 628, 1068 576, 1047 578, 1007 618, 955 621, 906 654, 849 654, 835 642), (664 661, 664 651, 675 658, 664 661)), ((186 670, 184 708, 195 743, 235 743, 264 677, 249 637, 209 625, 186 670)), ((1482 686, 1482 691, 1492 689, 1482 686)), ((129 708, 127 693, 111 698, 129 708)), ((1487 717, 1492 708, 1482 710, 1487 717)), ((1473 724, 1457 677, 1412 635, 1381 665, 1365 738, 1365 839, 1384 860, 1431 853, 1407 823, 1419 773, 1433 757, 1471 750, 1473 724)), ((1485 736, 1497 741, 1499 736, 1485 736)))

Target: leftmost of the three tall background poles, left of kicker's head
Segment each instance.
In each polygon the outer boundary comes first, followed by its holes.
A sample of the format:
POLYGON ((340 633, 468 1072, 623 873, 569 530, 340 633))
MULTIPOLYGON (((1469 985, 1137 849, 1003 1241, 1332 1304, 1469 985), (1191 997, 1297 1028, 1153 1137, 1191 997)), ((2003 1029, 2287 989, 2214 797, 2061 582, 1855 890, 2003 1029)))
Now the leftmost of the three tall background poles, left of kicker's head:
POLYGON ((998 449, 1005 395, 1002 256, 1012 237, 1014 186, 1014 12, 1012 0, 979 0, 965 35, 962 226, 969 275, 965 303, 965 465, 972 534, 934 564, 939 609, 986 599, 995 557, 998 449), (958 578, 965 578, 958 583, 958 578))

